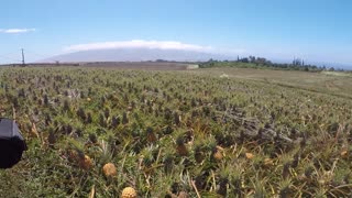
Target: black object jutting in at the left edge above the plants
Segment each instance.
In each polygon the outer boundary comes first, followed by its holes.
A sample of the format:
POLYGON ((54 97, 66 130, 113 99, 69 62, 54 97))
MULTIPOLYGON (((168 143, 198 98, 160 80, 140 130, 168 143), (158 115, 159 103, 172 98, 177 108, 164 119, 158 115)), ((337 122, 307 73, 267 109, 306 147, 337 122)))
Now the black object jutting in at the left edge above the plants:
POLYGON ((0 168, 11 168, 19 163, 26 144, 18 124, 10 119, 0 119, 0 168))

